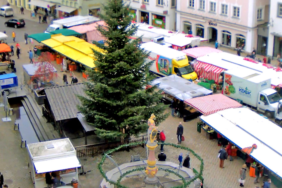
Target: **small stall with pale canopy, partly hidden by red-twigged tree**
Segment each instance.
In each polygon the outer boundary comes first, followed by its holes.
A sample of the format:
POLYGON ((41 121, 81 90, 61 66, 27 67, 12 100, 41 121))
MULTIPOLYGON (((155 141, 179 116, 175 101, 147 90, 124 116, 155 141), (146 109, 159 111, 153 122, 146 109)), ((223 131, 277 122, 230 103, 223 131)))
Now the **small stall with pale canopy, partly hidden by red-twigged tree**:
POLYGON ((57 69, 48 62, 23 65, 24 82, 31 89, 51 86, 57 69))

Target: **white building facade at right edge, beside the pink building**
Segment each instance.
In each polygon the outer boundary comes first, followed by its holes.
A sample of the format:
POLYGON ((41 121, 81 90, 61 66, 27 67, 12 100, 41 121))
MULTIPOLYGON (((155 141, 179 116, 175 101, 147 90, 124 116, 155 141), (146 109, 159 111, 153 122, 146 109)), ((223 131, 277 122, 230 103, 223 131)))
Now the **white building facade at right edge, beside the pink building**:
POLYGON ((282 1, 270 0, 270 10, 267 55, 277 57, 282 55, 282 1))

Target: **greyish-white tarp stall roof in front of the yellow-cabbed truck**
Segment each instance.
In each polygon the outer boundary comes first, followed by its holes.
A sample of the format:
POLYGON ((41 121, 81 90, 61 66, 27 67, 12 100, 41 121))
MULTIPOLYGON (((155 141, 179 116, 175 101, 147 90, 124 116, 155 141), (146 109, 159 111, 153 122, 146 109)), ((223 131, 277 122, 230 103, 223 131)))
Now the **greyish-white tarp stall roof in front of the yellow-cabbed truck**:
POLYGON ((212 91, 177 75, 157 78, 153 81, 152 85, 156 84, 159 84, 159 89, 162 89, 164 92, 183 101, 185 99, 201 97, 213 93, 212 91))

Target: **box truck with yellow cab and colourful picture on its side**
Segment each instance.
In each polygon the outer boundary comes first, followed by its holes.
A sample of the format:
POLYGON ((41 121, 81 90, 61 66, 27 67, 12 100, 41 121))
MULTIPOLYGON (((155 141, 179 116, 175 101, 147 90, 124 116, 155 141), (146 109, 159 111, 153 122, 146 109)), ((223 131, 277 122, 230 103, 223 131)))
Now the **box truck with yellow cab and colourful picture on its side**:
POLYGON ((153 61, 150 71, 159 76, 176 74, 185 79, 196 80, 197 74, 189 64, 185 53, 172 48, 167 48, 155 42, 146 42, 140 45, 145 51, 150 52, 147 62, 153 61))

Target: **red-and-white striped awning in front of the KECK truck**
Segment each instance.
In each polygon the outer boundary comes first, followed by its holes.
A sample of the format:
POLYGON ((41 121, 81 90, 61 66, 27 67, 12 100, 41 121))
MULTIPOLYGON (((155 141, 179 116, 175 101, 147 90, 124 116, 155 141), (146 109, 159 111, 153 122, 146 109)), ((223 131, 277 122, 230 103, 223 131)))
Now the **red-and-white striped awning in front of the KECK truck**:
POLYGON ((216 113, 220 110, 225 110, 228 108, 239 108, 242 106, 236 100, 226 97, 223 94, 213 94, 204 97, 186 99, 184 102, 199 110, 205 116, 216 113))

